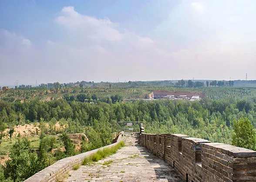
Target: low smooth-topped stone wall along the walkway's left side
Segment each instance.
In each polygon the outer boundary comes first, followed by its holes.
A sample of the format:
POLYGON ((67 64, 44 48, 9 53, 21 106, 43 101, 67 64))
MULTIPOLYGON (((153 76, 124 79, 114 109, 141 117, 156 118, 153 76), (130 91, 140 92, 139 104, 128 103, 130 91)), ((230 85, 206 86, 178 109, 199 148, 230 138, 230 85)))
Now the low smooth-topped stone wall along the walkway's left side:
POLYGON ((37 172, 35 175, 31 176, 29 179, 26 179, 24 182, 57 182, 61 176, 66 174, 68 171, 71 171, 74 166, 81 164, 85 157, 96 153, 98 150, 115 146, 119 141, 121 141, 121 135, 118 135, 116 143, 112 143, 111 145, 104 146, 99 149, 94 149, 86 153, 81 153, 76 156, 61 159, 55 162, 53 165, 43 169, 42 171, 37 172))

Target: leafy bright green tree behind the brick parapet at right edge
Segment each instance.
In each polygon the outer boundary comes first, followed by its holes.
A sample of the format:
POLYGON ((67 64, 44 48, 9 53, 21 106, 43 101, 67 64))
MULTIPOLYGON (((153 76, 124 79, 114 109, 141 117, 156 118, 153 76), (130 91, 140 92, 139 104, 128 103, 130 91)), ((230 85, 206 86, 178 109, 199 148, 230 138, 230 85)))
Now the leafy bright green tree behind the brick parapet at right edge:
POLYGON ((234 121, 232 145, 256 150, 256 131, 248 118, 241 117, 234 121))

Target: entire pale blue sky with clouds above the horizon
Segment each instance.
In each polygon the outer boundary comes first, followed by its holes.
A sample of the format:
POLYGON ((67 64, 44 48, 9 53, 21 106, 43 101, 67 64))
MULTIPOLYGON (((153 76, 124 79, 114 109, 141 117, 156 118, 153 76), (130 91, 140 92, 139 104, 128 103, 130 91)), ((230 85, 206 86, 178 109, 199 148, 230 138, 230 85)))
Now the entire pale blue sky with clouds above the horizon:
POLYGON ((256 79, 255 0, 0 0, 0 85, 256 79))

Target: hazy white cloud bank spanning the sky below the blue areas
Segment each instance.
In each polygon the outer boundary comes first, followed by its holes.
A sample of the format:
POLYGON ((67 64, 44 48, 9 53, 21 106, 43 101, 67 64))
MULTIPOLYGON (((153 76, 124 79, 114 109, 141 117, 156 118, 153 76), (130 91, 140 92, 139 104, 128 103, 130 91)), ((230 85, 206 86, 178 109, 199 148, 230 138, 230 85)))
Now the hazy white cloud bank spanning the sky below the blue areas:
MULTIPOLYGON (((205 3, 204 8, 217 4, 205 3)), ((256 78, 256 28, 248 18, 254 17, 254 11, 246 16, 229 12, 239 17, 238 26, 224 16, 226 5, 224 14, 216 14, 219 7, 198 13, 191 6, 200 7, 184 2, 158 26, 155 36, 148 34, 151 37, 108 18, 78 13, 74 7, 64 7, 52 20, 58 26, 58 39, 49 36, 44 45, 0 29, 0 83, 115 81, 117 77, 120 81, 241 79, 245 73, 256 78)))

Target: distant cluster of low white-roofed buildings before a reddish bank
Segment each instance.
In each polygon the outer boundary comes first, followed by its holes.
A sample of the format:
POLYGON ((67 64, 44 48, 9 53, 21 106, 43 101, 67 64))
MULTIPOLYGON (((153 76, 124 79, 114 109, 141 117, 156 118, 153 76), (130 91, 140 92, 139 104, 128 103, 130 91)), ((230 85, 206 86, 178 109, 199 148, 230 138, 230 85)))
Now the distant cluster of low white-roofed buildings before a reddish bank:
POLYGON ((169 98, 169 99, 179 99, 179 100, 190 100, 198 101, 201 98, 206 97, 205 93, 187 92, 187 91, 153 91, 152 97, 158 98, 169 98))

